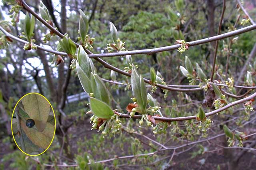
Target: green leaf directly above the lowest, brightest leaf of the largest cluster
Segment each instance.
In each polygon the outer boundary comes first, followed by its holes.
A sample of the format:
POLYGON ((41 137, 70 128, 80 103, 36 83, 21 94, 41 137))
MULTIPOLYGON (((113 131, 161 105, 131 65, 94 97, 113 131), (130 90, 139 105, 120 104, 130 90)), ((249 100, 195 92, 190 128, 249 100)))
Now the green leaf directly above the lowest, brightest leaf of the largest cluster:
POLYGON ((92 93, 96 99, 111 105, 110 93, 102 79, 97 74, 91 74, 91 86, 92 93))

